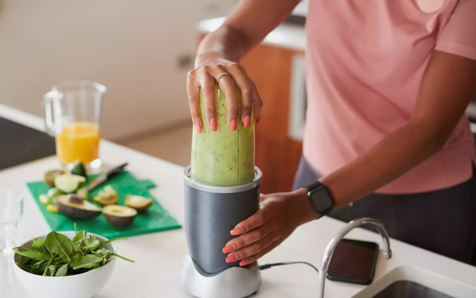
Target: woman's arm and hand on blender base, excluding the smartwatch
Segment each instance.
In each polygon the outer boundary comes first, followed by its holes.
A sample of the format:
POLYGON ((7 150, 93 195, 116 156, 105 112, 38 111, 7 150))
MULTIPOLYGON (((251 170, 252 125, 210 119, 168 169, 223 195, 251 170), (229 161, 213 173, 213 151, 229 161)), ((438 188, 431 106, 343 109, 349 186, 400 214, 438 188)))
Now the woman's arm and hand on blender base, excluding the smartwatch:
MULTIPOLYGON (((365 154, 320 181, 335 208, 377 190, 440 150, 476 92, 476 60, 436 51, 426 68, 410 121, 365 154)), ((297 226, 316 219, 307 190, 261 196, 261 208, 230 233, 227 262, 254 262, 285 240, 297 226)))

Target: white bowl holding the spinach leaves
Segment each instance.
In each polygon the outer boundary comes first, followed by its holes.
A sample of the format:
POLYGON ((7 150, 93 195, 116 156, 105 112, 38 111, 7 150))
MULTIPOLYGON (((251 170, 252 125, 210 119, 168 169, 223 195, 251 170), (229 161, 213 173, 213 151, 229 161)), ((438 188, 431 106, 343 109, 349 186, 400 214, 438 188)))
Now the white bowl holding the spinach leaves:
MULTIPOLYGON (((76 233, 74 231, 59 232, 73 239, 76 233)), ((94 235, 102 242, 108 240, 102 236, 94 235)), ((36 237, 36 239, 46 239, 47 235, 36 237)), ((23 243, 21 246, 31 248, 33 240, 23 243)), ((104 248, 116 252, 111 242, 103 245, 104 248)), ((20 263, 21 256, 13 254, 14 262, 20 263)), ((20 281, 21 285, 35 298, 91 298, 103 288, 111 277, 112 270, 116 265, 116 259, 111 260, 106 265, 81 274, 70 276, 42 276, 26 272, 17 265, 13 266, 13 271, 20 281)))

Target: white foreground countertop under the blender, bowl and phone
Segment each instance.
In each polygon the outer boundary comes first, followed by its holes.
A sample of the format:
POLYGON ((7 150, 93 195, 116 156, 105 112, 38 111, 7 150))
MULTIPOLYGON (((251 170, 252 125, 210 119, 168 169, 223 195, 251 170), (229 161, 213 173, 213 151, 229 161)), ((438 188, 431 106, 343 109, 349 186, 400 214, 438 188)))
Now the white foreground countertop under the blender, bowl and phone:
MULTIPOLYGON (((9 119, 19 123, 39 129, 42 127, 40 118, 0 105, 0 116, 7 114, 9 119)), ((105 140, 101 141, 100 156, 107 164, 128 161, 128 170, 135 176, 154 181, 157 188, 152 189, 151 193, 181 224, 184 223, 182 167, 105 140)), ((58 165, 55 157, 48 157, 0 171, 0 188, 17 189, 25 195, 22 223, 25 239, 50 231, 25 182, 41 179, 45 171, 58 165)), ((342 222, 327 217, 309 222, 297 228, 260 262, 299 260, 318 266, 327 242, 342 226, 342 222)), ((348 237, 375 241, 382 246, 381 237, 366 230, 356 229, 348 237)), ((131 237, 127 241, 117 241, 115 245, 121 255, 136 262, 119 260, 108 284, 95 298, 190 298, 178 286, 180 265, 188 252, 184 229, 131 237)), ((461 297, 476 297, 476 267, 397 240, 391 241, 391 248, 392 259, 386 261, 381 255, 379 257, 374 284, 390 270, 407 266, 432 271, 469 285, 472 287, 471 296, 461 297)), ((11 263, 7 265, 5 260, 1 261, 0 297, 27 298, 11 266, 11 263)), ((318 275, 307 266, 271 268, 262 272, 262 278, 263 284, 254 297, 317 297, 318 275)), ((364 288, 365 286, 326 281, 325 297, 350 298, 364 288)))

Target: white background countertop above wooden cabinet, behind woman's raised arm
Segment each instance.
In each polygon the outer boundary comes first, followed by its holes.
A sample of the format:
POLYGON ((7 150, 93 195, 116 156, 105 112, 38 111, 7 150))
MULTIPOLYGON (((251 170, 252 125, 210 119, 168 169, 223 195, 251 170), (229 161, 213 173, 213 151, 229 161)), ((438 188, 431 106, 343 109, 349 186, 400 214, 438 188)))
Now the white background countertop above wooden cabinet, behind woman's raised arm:
MULTIPOLYGON (((224 17, 204 19, 198 23, 198 30, 205 33, 215 31, 224 21, 224 17)), ((263 43, 304 52, 306 31, 304 26, 281 24, 265 37, 263 43)))

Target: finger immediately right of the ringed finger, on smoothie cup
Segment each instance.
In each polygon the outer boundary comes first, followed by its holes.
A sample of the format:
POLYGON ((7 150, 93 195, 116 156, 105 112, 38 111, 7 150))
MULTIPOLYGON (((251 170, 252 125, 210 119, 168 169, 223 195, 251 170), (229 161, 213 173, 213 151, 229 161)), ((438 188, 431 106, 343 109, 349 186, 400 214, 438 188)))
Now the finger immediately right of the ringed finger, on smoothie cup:
POLYGON ((228 73, 233 77, 241 94, 240 117, 245 127, 248 127, 251 121, 251 112, 253 106, 253 88, 252 82, 246 74, 245 69, 237 64, 228 66, 228 73))

